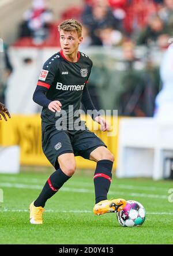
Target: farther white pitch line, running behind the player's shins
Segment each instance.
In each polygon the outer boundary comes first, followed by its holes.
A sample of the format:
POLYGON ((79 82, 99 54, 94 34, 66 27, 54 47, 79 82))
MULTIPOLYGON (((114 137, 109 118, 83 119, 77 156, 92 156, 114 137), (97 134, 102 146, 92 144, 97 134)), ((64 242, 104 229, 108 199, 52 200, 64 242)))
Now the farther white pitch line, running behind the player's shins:
MULTIPOLYGON (((27 184, 20 184, 20 183, 0 183, 1 187, 9 187, 9 188, 20 188, 20 189, 29 189, 29 190, 42 190, 42 185, 27 185, 27 184)), ((93 190, 86 190, 84 188, 68 188, 68 187, 62 187, 61 191, 63 192, 77 192, 77 193, 92 193, 93 190)), ((108 193, 109 195, 116 195, 117 192, 110 191, 108 193)), ((135 196, 135 197, 142 197, 142 198, 154 198, 154 199, 167 199, 168 195, 157 195, 157 194, 144 194, 144 193, 129 193, 129 192, 121 192, 118 191, 119 195, 127 195, 129 196, 135 196)))

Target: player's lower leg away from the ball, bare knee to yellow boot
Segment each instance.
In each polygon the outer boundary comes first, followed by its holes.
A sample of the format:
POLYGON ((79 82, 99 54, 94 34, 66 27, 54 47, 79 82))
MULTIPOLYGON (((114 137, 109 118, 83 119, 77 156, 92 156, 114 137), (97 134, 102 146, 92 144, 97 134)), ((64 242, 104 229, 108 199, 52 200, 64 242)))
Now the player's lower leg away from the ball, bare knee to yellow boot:
POLYGON ((62 185, 73 176, 76 162, 73 153, 59 155, 60 168, 48 178, 38 198, 29 206, 31 224, 43 224, 43 211, 46 201, 51 198, 62 185))

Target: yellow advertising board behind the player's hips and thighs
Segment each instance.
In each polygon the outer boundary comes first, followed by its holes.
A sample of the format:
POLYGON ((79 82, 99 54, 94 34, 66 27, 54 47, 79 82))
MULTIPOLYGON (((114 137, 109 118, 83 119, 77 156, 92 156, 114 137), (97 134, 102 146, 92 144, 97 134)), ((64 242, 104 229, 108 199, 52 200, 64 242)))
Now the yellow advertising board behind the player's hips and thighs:
MULTIPOLYGON (((91 117, 82 116, 88 128, 95 132, 99 138, 106 143, 108 149, 115 156, 114 168, 116 168, 117 147, 118 147, 118 118, 110 117, 109 121, 114 128, 114 132, 102 132, 100 128, 95 129, 96 122, 91 117), (111 135, 111 136, 110 136, 111 135)), ((96 125, 97 126, 97 125, 96 125)), ((100 125, 99 125, 100 127, 100 125)), ((21 148, 21 165, 51 166, 42 151, 42 130, 41 118, 39 114, 22 116, 13 115, 11 119, 0 121, 0 145, 19 145, 21 148)), ((10 161, 10 159, 9 159, 10 161)), ((82 157, 76 157, 77 168, 95 169, 96 163, 82 157)))

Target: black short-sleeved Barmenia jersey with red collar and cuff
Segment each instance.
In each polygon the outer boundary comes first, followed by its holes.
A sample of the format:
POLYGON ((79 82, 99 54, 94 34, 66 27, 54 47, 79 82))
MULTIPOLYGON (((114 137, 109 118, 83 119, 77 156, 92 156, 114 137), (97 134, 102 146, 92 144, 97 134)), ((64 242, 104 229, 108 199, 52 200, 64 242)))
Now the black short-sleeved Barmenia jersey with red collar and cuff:
MULTIPOLYGON (((86 54, 78 52, 77 62, 70 62, 61 50, 44 63, 37 86, 48 88, 46 97, 60 101, 61 109, 66 111, 68 118, 72 110, 74 113, 80 109, 82 91, 88 83, 91 68, 92 61, 86 54)), ((45 121, 57 121, 55 113, 47 107, 43 107, 41 117, 45 121)))

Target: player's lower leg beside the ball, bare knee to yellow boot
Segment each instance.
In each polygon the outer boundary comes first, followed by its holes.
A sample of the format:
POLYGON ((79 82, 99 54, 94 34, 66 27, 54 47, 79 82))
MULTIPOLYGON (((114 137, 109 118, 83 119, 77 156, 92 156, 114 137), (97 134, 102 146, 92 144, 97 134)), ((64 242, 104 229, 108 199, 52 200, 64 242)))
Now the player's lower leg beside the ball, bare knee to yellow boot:
POLYGON ((125 199, 107 199, 111 184, 114 155, 106 147, 100 146, 91 152, 89 159, 97 162, 94 175, 96 204, 93 212, 98 216, 104 213, 119 212, 126 205, 125 199))

